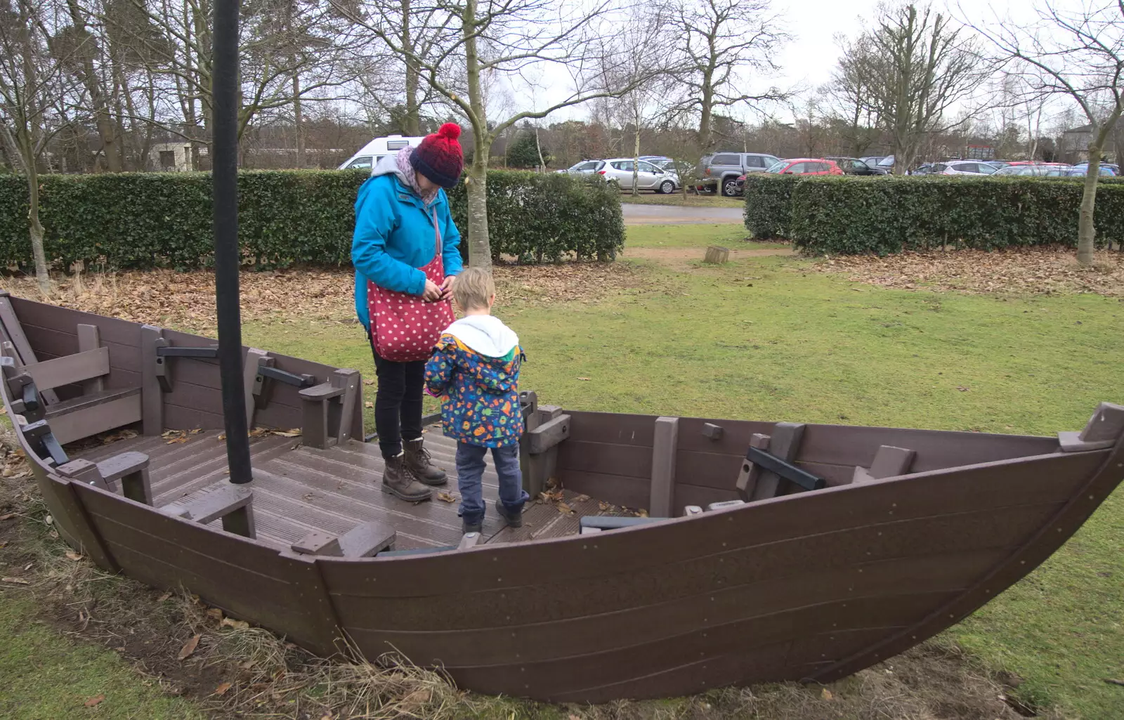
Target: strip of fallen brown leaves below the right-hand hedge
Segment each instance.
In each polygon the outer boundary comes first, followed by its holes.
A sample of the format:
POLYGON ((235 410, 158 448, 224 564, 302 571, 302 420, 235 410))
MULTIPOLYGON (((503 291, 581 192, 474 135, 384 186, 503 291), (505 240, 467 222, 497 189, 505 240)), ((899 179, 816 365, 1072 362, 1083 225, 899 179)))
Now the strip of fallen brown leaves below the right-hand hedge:
POLYGON ((931 250, 831 256, 821 272, 843 272, 860 282, 903 290, 981 293, 1096 293, 1124 297, 1124 253, 1100 250, 1091 267, 1077 264, 1071 247, 931 250))

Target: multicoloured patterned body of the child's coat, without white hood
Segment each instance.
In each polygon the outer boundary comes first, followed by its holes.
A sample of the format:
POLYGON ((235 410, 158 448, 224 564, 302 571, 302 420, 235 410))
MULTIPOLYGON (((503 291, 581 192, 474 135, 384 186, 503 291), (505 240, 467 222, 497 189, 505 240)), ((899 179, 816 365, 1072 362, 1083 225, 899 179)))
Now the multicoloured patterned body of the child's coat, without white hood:
POLYGON ((450 334, 437 341, 425 366, 426 391, 441 398, 441 420, 446 437, 482 447, 519 443, 519 366, 516 346, 505 357, 473 352, 450 334))

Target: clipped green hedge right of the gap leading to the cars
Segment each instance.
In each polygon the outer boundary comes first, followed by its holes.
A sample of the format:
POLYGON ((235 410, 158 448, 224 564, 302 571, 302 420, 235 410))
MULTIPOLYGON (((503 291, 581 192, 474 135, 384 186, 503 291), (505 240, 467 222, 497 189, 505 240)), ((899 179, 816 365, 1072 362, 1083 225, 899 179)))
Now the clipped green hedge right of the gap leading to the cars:
MULTIPOLYGON (((751 176, 745 226, 813 255, 1075 246, 1082 188, 1081 179, 751 176)), ((1124 183, 1098 184, 1094 221, 1098 246, 1124 240, 1124 183)))

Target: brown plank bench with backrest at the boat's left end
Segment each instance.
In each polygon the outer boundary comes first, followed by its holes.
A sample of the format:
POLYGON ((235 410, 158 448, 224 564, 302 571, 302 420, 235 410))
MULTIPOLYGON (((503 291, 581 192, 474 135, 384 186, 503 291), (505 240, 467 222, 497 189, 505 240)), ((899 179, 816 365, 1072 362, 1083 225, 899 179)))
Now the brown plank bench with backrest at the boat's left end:
MULTIPOLYGON (((12 337, 7 322, 3 330, 12 337)), ((30 355, 29 348, 20 353, 11 340, 2 344, 4 357, 12 361, 4 364, 3 374, 9 397, 17 399, 13 411, 33 422, 49 420, 61 445, 138 422, 142 414, 140 388, 105 386, 109 348, 101 346, 98 326, 79 325, 78 339, 78 353, 43 362, 28 362, 24 356, 30 355), (81 385, 82 394, 60 400, 55 390, 64 385, 81 385)))

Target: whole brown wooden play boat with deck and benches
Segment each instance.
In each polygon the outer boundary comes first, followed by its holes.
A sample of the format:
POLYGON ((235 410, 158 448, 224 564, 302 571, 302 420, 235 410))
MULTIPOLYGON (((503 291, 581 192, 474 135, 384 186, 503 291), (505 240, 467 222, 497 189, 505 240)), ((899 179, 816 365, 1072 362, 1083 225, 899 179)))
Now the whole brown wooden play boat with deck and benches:
MULTIPOLYGON (((262 429, 233 484, 212 340, 8 297, 0 320, 4 407, 70 544, 316 653, 346 638, 486 693, 842 677, 1003 592, 1124 477, 1107 403, 1080 434, 1019 437, 528 397, 526 482, 546 501, 462 538, 455 504, 380 492, 355 371, 243 348, 262 429)), ((454 444, 430 427, 427 447, 452 476, 454 444)))

